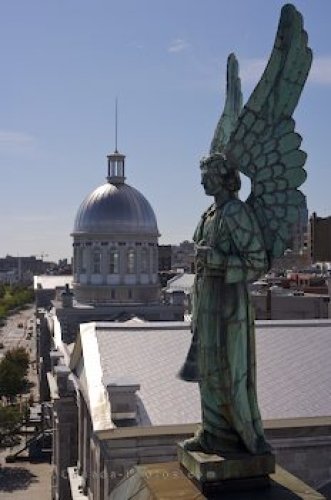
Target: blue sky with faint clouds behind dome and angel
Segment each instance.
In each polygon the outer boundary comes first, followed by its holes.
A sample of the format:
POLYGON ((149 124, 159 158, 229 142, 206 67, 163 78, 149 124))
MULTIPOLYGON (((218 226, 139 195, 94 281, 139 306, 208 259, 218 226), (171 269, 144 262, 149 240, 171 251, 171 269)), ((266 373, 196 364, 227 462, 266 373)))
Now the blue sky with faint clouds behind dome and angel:
MULTIPOLYGON (((314 52, 295 118, 309 211, 331 215, 331 2, 297 0, 314 52)), ((270 54, 278 0, 7 0, 0 3, 0 256, 71 257, 75 213, 114 150, 150 201, 161 243, 190 239, 212 201, 199 159, 235 52, 246 101, 270 54)), ((242 198, 247 196, 247 185, 242 198)))

